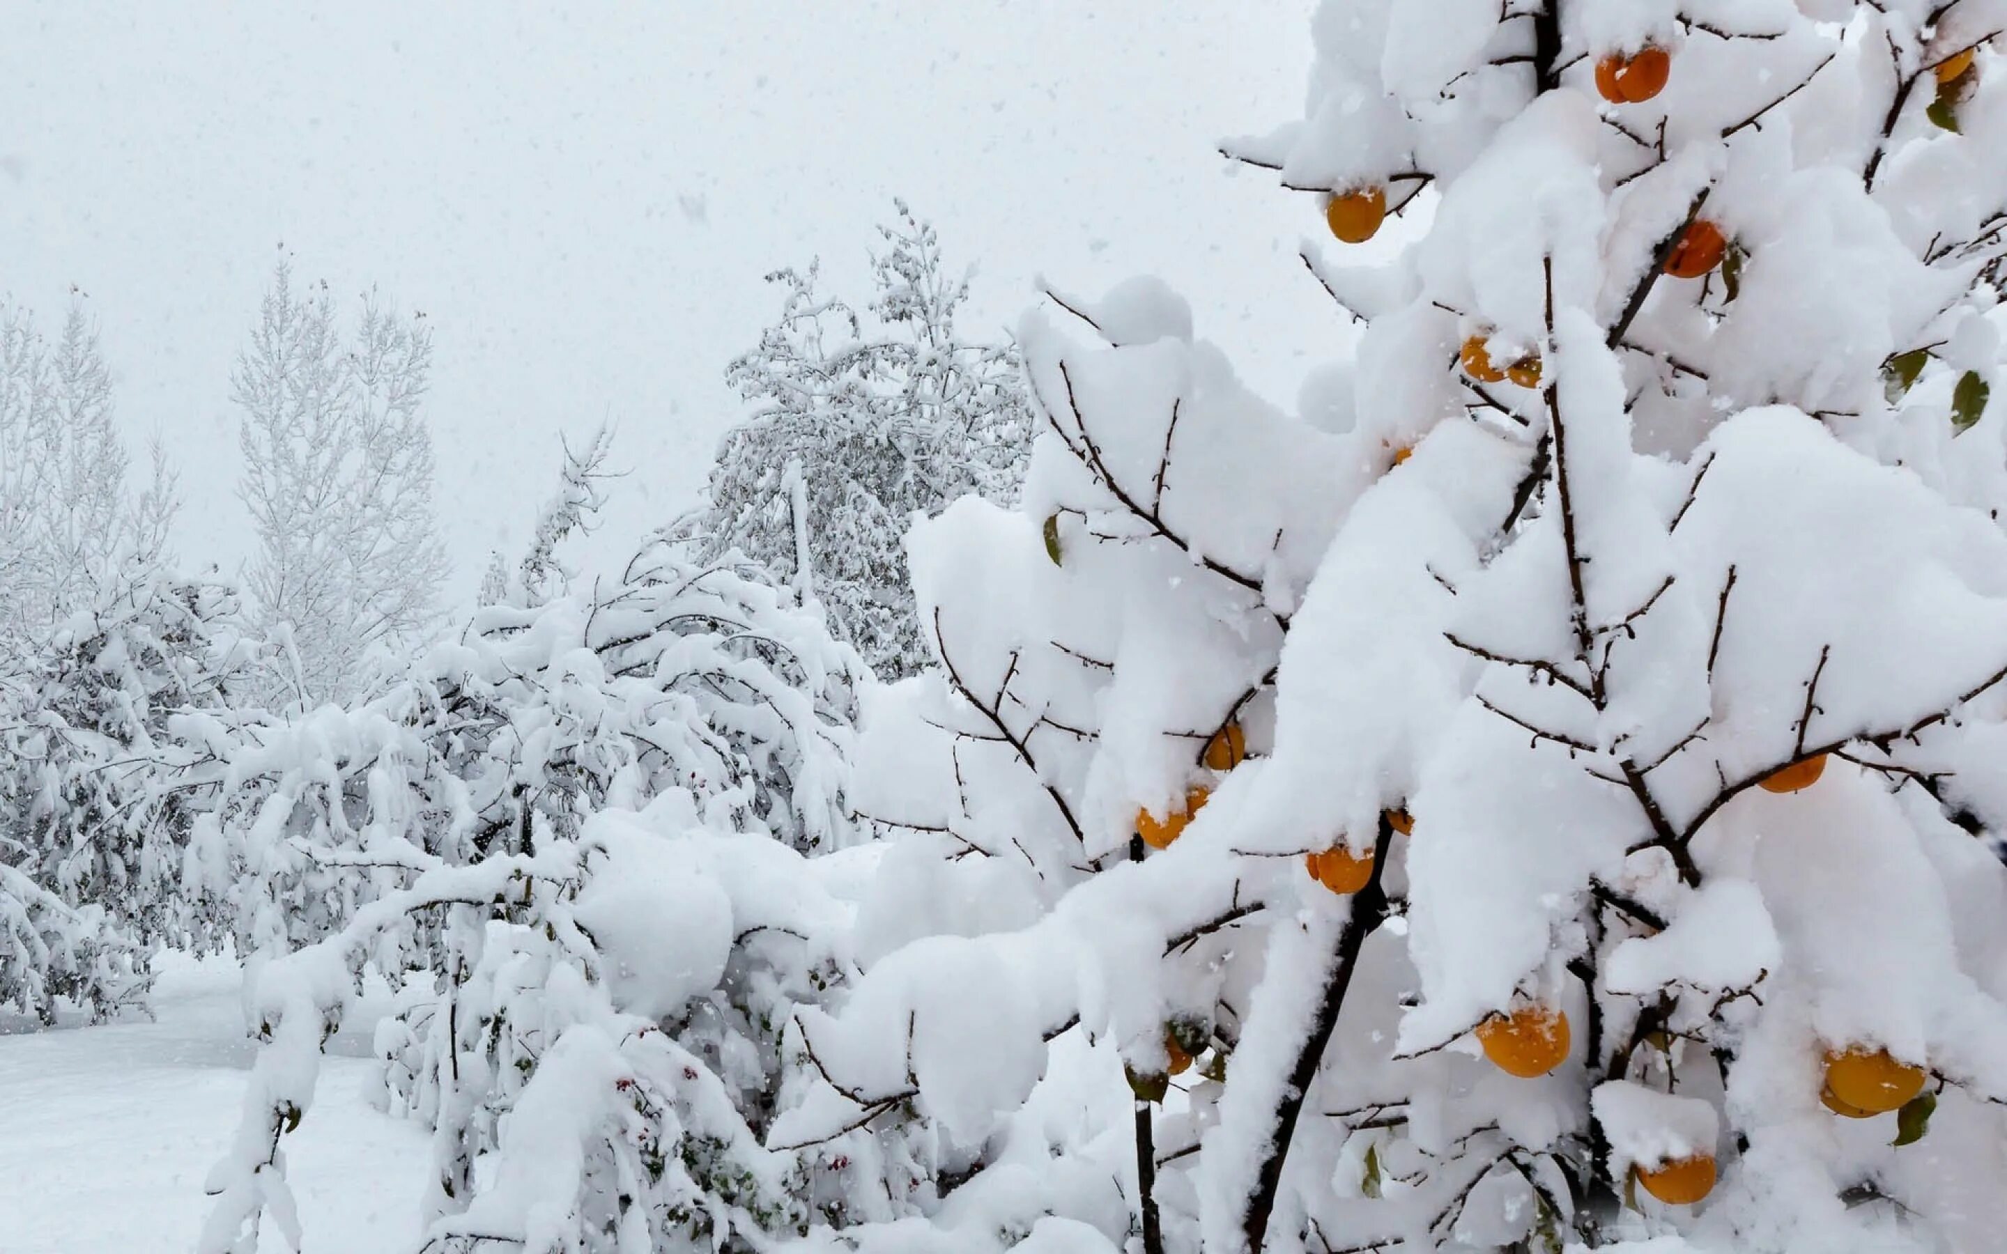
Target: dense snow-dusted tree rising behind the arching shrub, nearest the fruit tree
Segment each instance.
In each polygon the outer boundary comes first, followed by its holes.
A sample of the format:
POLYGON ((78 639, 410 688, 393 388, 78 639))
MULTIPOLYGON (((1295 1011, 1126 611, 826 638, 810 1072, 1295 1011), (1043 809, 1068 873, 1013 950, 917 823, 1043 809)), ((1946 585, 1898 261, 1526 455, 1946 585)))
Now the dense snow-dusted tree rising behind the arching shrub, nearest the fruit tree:
POLYGON ((731 365, 753 415, 684 520, 708 558, 741 552, 799 596, 887 678, 927 664, 899 538, 913 514, 981 494, 1008 502, 1032 433, 1012 345, 967 341, 933 227, 899 203, 879 227, 867 327, 817 289, 817 267, 769 275, 781 319, 731 365))

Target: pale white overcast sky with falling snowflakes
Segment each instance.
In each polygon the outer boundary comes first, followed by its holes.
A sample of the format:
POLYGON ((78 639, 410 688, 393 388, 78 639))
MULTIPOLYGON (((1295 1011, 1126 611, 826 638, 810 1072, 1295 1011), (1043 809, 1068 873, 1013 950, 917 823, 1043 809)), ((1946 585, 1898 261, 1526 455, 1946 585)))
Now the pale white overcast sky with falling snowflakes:
POLYGON ((456 596, 560 431, 618 425, 606 556, 684 508, 761 275, 821 255, 865 299, 895 195, 977 265, 971 325, 1160 273, 1284 405, 1347 335, 1295 259, 1315 201, 1212 152, 1301 108, 1311 0, 6 8, 0 291, 44 325, 88 293, 191 564, 249 552, 229 369, 281 241, 434 327, 456 596))

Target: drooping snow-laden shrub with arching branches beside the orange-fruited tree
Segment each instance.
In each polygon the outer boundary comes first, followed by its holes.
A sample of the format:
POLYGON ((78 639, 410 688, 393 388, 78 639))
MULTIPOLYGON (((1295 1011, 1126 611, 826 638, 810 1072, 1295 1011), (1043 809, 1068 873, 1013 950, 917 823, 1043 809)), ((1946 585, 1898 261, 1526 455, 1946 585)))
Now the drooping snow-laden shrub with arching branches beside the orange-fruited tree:
POLYGON ((612 588, 488 606, 385 696, 239 752, 211 883, 247 885, 269 1045, 205 1248, 267 1206, 291 1222, 279 1136, 365 963, 436 987, 377 1043, 436 1126, 450 1248, 805 1230, 815 1172, 761 1134, 803 1065, 793 1001, 845 973, 819 877, 847 863, 805 855, 847 843, 863 664, 749 574, 650 544, 612 588))

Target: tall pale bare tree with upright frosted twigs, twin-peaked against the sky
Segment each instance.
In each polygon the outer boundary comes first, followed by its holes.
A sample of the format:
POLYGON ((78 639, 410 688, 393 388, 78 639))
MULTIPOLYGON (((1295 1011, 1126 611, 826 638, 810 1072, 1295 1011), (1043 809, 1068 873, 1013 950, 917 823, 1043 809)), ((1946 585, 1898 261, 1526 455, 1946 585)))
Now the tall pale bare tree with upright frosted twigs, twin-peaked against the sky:
POLYGON ((281 261, 231 397, 239 486, 259 538, 249 592, 297 656, 285 698, 341 698, 371 652, 395 658, 438 626, 446 550, 432 518, 432 435, 419 413, 432 333, 371 293, 347 333, 327 285, 295 293, 281 261))

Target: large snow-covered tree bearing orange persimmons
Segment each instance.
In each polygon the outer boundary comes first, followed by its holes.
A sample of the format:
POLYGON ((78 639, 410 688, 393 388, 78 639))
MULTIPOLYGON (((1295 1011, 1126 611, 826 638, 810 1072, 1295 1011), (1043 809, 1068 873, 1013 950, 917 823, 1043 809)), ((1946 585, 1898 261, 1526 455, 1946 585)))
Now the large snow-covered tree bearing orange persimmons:
POLYGON ((1226 144, 1361 323, 1303 417, 1150 283, 1026 321, 1024 504, 909 540, 941 672, 799 1013, 979 1148, 939 1248, 1997 1244, 2003 30, 1325 0, 1226 144), (1204 1065, 1130 1122, 1116 1055, 1204 1065))

